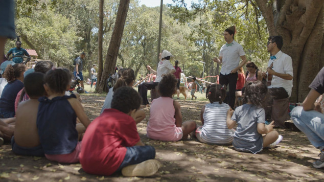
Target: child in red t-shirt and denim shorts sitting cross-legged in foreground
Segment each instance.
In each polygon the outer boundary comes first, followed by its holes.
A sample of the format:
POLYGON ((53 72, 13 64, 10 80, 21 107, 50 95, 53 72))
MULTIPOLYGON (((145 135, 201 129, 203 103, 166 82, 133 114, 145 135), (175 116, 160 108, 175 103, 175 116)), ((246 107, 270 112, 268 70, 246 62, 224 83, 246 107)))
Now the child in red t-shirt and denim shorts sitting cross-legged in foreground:
POLYGON ((122 171, 124 176, 150 176, 160 164, 153 160, 155 149, 145 146, 137 133, 135 112, 142 99, 131 87, 115 90, 111 108, 89 125, 85 131, 80 163, 85 172, 111 175, 122 171))

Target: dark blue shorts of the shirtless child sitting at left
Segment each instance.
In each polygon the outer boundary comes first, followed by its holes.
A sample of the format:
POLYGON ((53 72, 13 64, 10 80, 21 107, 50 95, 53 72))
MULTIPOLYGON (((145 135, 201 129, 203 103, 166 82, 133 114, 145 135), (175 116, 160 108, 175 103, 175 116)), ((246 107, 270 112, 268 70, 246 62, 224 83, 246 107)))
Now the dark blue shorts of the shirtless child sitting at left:
POLYGON ((13 153, 28 156, 44 156, 43 148, 39 145, 36 147, 20 147, 15 143, 14 137, 11 138, 11 148, 13 153))

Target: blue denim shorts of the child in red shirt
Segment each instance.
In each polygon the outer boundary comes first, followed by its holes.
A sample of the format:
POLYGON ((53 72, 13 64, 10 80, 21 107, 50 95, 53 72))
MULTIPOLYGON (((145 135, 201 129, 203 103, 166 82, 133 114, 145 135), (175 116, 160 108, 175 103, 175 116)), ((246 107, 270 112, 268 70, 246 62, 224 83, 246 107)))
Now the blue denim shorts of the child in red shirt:
POLYGON ((155 149, 152 146, 134 146, 126 147, 126 149, 124 161, 115 172, 121 171, 126 166, 140 164, 155 158, 155 149))

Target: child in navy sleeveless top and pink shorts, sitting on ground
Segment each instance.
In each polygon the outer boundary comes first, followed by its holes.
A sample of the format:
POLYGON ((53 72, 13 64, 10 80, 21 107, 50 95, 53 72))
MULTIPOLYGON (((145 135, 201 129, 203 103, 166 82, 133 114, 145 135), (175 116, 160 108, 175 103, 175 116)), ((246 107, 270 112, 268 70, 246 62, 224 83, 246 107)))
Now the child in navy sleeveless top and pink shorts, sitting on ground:
POLYGON ((65 96, 72 75, 63 69, 50 70, 44 77, 48 97, 39 98, 37 128, 39 141, 48 160, 59 163, 79 162, 76 118, 87 127, 90 123, 80 101, 74 94, 65 96))

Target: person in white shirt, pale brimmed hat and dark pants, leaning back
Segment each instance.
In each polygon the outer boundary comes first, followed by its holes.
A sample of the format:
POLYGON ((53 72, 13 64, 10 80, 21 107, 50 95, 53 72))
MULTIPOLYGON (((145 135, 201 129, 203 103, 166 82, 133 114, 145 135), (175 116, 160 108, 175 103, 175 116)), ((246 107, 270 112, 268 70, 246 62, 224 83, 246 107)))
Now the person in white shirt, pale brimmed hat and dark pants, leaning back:
POLYGON ((147 100, 147 90, 154 89, 155 86, 158 85, 158 82, 162 80, 162 76, 164 74, 173 74, 175 69, 173 65, 170 63, 170 58, 174 57, 169 51, 163 50, 159 55, 160 61, 157 65, 157 70, 153 70, 150 65, 147 65, 147 69, 156 75, 154 82, 145 82, 143 84, 138 85, 138 93, 140 93, 143 104, 146 107, 149 107, 149 101, 147 100))

